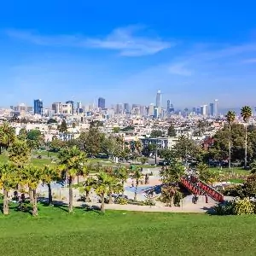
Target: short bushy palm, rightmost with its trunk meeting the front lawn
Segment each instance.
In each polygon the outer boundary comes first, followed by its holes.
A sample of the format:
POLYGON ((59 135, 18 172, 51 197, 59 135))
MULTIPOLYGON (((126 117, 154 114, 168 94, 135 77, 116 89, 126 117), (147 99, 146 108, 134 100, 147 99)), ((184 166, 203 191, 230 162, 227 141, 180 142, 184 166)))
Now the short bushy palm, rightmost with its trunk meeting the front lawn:
POLYGON ((94 188, 96 194, 101 196, 101 211, 105 212, 105 195, 108 195, 110 191, 110 183, 113 182, 113 177, 109 176, 106 172, 100 172, 96 175, 94 188))

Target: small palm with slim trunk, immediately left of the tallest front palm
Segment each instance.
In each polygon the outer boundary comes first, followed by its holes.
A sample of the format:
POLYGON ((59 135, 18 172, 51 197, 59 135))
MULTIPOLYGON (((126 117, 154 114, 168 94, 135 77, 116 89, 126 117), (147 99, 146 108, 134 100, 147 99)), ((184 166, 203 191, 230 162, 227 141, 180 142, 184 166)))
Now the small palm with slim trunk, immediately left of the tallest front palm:
POLYGON ((43 169, 43 183, 47 184, 48 187, 48 204, 52 205, 52 193, 51 193, 51 185, 52 181, 57 181, 61 178, 61 172, 57 167, 44 165, 43 169))

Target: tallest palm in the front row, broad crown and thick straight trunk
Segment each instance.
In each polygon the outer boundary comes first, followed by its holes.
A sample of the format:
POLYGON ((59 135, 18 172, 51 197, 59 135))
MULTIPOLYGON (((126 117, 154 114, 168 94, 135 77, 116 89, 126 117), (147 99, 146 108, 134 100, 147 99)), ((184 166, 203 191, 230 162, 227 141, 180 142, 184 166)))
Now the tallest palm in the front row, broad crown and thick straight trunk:
POLYGON ((84 173, 84 169, 87 170, 84 165, 85 154, 80 151, 78 147, 64 148, 58 155, 61 170, 65 172, 65 176, 68 177, 68 188, 69 188, 69 204, 68 211, 73 212, 73 179, 79 173, 84 173))

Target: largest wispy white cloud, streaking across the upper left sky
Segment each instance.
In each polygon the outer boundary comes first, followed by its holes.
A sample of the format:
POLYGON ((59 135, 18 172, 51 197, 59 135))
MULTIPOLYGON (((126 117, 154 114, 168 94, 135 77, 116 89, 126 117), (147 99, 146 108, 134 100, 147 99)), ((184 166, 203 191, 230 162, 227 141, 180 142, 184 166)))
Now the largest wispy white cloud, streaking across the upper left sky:
POLYGON ((79 34, 46 36, 36 32, 7 31, 9 37, 18 38, 32 44, 112 49, 119 51, 119 54, 123 56, 154 55, 175 46, 174 43, 164 41, 161 38, 139 36, 139 33, 143 33, 143 29, 139 26, 117 28, 103 38, 89 38, 79 34))

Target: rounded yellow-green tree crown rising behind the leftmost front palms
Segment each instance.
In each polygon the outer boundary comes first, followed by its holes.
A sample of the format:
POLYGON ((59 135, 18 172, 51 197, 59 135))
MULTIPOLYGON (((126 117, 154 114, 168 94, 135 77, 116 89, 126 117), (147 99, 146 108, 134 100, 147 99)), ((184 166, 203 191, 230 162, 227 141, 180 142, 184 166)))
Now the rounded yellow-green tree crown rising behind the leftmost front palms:
POLYGON ((18 168, 28 165, 31 160, 31 149, 26 141, 15 140, 9 148, 9 160, 18 168))

